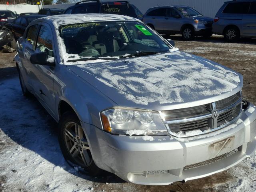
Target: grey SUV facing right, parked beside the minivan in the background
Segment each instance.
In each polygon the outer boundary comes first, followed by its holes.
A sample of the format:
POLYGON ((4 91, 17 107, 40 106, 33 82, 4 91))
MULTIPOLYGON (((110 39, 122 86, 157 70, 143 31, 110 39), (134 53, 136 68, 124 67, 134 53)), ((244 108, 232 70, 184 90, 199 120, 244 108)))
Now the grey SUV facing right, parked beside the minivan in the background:
POLYGON ((213 18, 202 16, 188 6, 150 8, 143 22, 160 34, 181 34, 185 40, 192 40, 194 36, 212 36, 213 18))

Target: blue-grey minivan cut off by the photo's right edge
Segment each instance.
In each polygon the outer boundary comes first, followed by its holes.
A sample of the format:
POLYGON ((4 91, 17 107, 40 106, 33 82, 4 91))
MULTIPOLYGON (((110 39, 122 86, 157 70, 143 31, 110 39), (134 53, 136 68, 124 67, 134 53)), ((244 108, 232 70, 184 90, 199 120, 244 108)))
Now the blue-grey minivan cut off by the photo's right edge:
POLYGON ((225 2, 214 18, 214 34, 228 41, 256 37, 256 0, 225 2))

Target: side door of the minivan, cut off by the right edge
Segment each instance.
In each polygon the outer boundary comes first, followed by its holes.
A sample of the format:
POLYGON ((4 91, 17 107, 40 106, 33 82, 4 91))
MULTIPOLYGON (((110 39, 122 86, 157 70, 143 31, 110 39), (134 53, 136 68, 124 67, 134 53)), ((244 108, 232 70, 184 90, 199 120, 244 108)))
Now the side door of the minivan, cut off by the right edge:
POLYGON ((248 14, 243 14, 242 36, 256 36, 256 2, 251 2, 248 14))

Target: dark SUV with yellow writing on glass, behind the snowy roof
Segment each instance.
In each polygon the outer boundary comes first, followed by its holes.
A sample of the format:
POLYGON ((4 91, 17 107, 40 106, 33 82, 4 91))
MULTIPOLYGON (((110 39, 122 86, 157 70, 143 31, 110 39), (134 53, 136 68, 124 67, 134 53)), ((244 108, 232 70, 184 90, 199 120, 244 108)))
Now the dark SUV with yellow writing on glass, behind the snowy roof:
POLYGON ((100 0, 85 0, 69 7, 64 14, 78 13, 118 14, 138 19, 142 19, 143 17, 140 10, 128 1, 102 2, 100 0))

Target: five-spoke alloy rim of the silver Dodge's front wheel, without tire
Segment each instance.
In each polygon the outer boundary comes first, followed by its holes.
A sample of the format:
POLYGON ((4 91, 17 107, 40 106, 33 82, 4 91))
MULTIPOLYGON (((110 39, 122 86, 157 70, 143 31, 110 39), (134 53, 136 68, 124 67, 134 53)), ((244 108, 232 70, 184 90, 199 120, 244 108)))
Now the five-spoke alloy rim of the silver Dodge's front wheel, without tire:
POLYGON ((82 167, 90 166, 92 154, 82 127, 75 122, 68 122, 64 134, 66 147, 73 160, 82 167))

